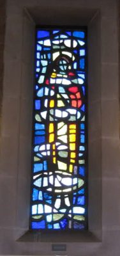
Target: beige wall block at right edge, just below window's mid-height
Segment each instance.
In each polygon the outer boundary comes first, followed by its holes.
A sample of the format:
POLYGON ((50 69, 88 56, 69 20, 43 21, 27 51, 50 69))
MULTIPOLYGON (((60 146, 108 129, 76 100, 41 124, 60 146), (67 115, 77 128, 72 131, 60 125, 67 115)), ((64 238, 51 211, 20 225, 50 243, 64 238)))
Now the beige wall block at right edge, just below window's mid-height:
POLYGON ((106 138, 102 140, 103 177, 120 177, 119 140, 106 138))

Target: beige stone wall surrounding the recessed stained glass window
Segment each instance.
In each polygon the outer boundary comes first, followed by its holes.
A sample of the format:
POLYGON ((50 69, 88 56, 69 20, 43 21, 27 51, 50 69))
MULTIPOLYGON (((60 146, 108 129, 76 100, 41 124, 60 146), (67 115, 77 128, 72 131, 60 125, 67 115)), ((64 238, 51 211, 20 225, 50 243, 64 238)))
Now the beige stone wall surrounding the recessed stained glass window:
MULTIPOLYGON (((8 0, 6 3, 6 33, 1 44, 3 52, 4 42, 1 255, 119 256, 117 4, 116 0, 8 0), (36 24, 88 27, 89 230, 80 232, 77 241, 71 234, 65 237, 60 234, 59 240, 50 234, 27 232, 36 24), (66 244, 66 252, 52 252, 52 244, 59 242, 66 244)), ((1 12, 4 16, 5 9, 1 8, 1 12)), ((3 67, 3 58, 1 62, 3 67)))

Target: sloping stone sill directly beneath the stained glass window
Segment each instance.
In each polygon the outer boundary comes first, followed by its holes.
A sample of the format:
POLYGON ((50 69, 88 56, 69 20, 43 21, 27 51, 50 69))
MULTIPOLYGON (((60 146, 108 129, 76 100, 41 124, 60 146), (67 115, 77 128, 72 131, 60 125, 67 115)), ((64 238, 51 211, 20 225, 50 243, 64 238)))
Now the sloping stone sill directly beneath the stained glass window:
POLYGON ((89 230, 75 231, 38 231, 29 230, 19 239, 18 242, 41 242, 41 243, 101 243, 101 239, 89 230))

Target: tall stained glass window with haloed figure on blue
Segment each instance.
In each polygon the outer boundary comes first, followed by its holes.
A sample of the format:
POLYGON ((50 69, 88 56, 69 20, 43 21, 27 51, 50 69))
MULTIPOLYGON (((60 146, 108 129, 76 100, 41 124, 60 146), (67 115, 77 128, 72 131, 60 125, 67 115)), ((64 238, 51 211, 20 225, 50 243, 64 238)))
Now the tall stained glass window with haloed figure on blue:
POLYGON ((87 228, 86 28, 36 31, 31 229, 87 228))

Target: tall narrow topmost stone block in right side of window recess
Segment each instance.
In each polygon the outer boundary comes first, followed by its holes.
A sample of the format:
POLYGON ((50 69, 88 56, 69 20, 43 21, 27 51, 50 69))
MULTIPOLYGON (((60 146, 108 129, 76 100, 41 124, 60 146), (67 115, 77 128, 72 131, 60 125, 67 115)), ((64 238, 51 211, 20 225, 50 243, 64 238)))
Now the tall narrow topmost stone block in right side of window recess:
POLYGON ((101 97, 101 17, 94 17, 88 26, 88 104, 101 97))

